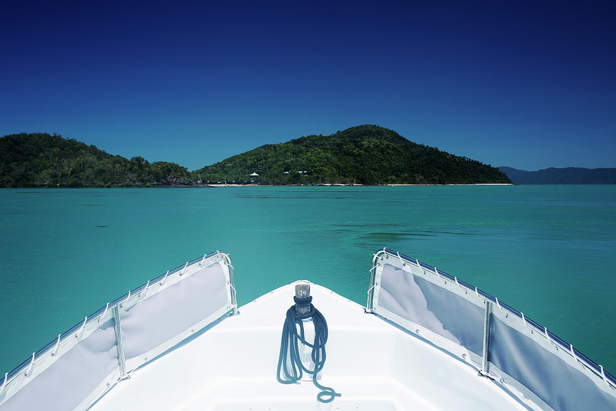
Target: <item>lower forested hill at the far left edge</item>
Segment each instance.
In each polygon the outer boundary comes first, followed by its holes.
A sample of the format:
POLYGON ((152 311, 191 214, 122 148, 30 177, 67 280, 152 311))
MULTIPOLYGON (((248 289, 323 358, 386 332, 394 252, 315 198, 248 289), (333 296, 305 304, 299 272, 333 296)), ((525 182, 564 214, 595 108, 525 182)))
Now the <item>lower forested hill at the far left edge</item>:
POLYGON ((1 187, 168 186, 189 179, 190 173, 178 164, 128 160, 59 135, 0 138, 1 187))

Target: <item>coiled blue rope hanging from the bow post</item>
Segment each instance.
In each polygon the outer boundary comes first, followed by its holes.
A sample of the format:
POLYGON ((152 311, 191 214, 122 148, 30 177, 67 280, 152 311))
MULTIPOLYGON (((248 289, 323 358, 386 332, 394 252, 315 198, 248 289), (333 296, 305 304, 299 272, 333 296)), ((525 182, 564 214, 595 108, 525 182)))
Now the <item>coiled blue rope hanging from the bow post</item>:
POLYGON ((320 388, 321 392, 318 393, 317 399, 322 403, 329 403, 333 401, 335 397, 340 397, 339 393, 336 393, 333 388, 322 386, 316 380, 317 374, 323 369, 325 365, 325 343, 327 342, 327 323, 323 314, 312 305, 312 297, 297 298, 293 297, 298 308, 309 307, 310 310, 307 314, 297 314, 296 306, 291 306, 287 310, 287 317, 285 324, 283 325, 282 338, 280 342, 280 356, 278 358, 278 371, 276 377, 278 382, 282 384, 293 384, 298 382, 304 372, 312 374, 312 382, 317 388, 320 388), (308 343, 304 337, 304 319, 312 319, 314 325, 314 343, 308 343), (298 334, 299 326, 299 334, 298 334), (299 354, 298 343, 303 343, 312 348, 312 362, 314 363, 314 370, 307 369, 299 354), (289 350, 291 345, 291 350, 289 350), (290 361, 287 364, 287 358, 290 361), (289 369, 290 366, 290 369, 289 369), (285 379, 281 376, 281 371, 284 373, 285 379))

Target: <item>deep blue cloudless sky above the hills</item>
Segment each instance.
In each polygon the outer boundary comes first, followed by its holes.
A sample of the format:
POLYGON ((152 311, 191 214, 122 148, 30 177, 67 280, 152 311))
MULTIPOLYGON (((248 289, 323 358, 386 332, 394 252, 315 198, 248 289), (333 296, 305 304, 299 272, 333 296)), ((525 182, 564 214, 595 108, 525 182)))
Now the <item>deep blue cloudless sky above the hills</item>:
POLYGON ((493 166, 616 166, 616 2, 3 1, 0 136, 196 169, 359 124, 493 166))

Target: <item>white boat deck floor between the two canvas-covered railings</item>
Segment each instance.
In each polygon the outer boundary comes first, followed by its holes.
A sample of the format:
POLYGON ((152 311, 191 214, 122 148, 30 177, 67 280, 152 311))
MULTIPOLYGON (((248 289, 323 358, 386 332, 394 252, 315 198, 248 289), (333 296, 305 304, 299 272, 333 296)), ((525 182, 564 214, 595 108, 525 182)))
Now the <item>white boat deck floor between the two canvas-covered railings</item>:
POLYGON ((359 304, 315 284, 311 295, 329 326, 319 381, 342 394, 331 403, 317 401, 311 375, 277 382, 289 284, 133 371, 90 410, 528 410, 470 364, 359 304))

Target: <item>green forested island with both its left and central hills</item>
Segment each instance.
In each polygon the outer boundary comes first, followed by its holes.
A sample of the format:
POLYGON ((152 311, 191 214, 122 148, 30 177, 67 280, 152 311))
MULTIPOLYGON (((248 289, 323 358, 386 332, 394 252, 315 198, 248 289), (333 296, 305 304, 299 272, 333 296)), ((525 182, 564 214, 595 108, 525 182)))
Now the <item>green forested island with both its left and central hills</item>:
POLYGON ((0 138, 3 187, 190 186, 198 179, 229 184, 511 183, 489 165, 416 144, 376 125, 264 145, 192 172, 171 162, 128 160, 55 134, 0 138))

